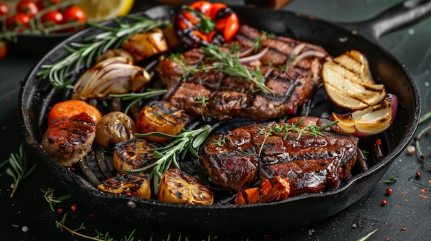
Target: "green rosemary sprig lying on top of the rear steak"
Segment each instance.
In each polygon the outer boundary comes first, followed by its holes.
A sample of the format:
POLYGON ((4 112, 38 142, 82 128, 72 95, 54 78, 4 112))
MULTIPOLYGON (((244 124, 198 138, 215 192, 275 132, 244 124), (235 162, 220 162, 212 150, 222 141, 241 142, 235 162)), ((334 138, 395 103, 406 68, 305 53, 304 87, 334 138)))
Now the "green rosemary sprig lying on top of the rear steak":
POLYGON ((251 67, 251 71, 249 71, 249 69, 241 64, 237 54, 225 53, 216 45, 202 47, 202 50, 207 54, 208 60, 215 60, 212 66, 218 71, 227 73, 230 76, 245 78, 253 82, 258 87, 254 92, 264 91, 266 93, 274 93, 272 89, 266 87, 264 77, 262 73, 260 73, 259 67, 251 67))

